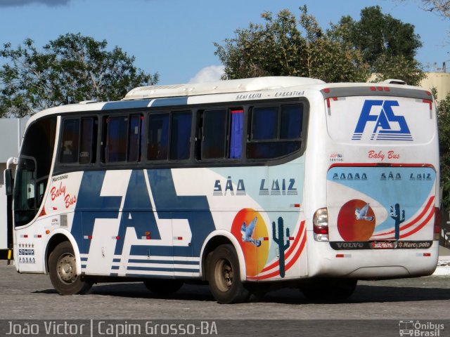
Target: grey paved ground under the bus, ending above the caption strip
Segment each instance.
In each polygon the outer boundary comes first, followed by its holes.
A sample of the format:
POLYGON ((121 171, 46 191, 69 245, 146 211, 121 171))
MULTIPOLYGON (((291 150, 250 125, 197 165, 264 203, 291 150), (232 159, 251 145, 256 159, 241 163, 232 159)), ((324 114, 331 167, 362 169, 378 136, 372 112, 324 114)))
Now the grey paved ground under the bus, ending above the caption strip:
POLYGON ((3 319, 449 319, 449 312, 449 277, 359 282, 345 303, 311 303, 297 289, 283 289, 262 302, 219 305, 207 286, 188 284, 168 297, 141 283, 98 284, 89 295, 60 296, 46 275, 0 265, 3 319))

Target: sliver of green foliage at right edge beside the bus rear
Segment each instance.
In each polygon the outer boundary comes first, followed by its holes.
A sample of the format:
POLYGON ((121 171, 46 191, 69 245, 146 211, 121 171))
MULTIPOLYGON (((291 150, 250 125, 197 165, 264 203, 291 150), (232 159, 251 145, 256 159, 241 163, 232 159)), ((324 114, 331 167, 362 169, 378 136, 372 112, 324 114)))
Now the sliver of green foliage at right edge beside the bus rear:
POLYGON ((441 166, 442 205, 450 211, 450 94, 437 105, 439 153, 441 166))

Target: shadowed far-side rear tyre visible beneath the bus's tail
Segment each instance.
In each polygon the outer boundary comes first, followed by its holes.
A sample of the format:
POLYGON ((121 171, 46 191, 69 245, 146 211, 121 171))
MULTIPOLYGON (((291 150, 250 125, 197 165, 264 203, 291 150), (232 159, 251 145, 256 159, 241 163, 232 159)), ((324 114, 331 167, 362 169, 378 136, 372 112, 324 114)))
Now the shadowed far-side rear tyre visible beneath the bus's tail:
POLYGON ((346 300, 356 289, 357 279, 314 279, 300 288, 309 300, 346 300))

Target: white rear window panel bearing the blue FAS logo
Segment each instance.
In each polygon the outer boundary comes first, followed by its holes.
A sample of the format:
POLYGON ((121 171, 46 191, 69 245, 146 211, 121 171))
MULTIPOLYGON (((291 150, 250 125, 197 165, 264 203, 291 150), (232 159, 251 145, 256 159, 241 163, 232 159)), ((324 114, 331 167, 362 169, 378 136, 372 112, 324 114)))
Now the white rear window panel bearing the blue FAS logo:
POLYGON ((395 96, 326 98, 327 130, 337 143, 425 144, 435 136, 432 101, 395 96))

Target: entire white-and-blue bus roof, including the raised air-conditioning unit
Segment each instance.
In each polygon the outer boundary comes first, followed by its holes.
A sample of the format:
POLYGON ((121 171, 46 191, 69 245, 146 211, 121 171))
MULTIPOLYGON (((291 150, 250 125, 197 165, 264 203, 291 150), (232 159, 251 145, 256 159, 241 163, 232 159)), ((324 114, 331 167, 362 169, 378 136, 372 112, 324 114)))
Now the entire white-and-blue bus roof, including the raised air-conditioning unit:
MULTIPOLYGON (((216 81, 195 84, 174 84, 168 86, 140 86, 132 89, 122 100, 110 102, 84 101, 77 104, 60 105, 50 107, 34 114, 27 122, 31 124, 50 114, 62 114, 70 112, 93 112, 96 110, 123 110, 144 107, 163 107, 174 105, 186 105, 190 103, 208 103, 211 101, 222 102, 224 100, 234 100, 226 97, 234 93, 262 93, 267 92, 266 98, 271 97, 271 91, 296 91, 313 89, 322 91, 326 97, 340 95, 365 95, 366 93, 379 93, 381 95, 408 95, 409 97, 427 98, 432 100, 431 93, 417 86, 406 86, 401 84, 383 83, 326 83, 320 79, 310 79, 307 77, 257 77, 251 79, 231 79, 226 81, 216 81), (390 92, 378 92, 378 88, 389 87, 390 92), (375 89, 373 89, 375 88, 375 89), (413 90, 411 90, 413 89, 413 90), (372 90, 375 90, 372 91, 372 90), (211 95, 211 98, 205 98, 211 95), (214 97, 222 95, 223 97, 214 97)), ((388 90, 389 91, 389 90, 388 90)), ((262 96, 258 96, 261 98, 262 96)))

